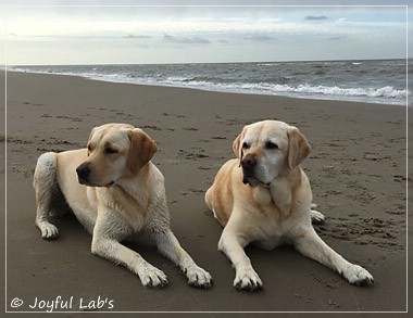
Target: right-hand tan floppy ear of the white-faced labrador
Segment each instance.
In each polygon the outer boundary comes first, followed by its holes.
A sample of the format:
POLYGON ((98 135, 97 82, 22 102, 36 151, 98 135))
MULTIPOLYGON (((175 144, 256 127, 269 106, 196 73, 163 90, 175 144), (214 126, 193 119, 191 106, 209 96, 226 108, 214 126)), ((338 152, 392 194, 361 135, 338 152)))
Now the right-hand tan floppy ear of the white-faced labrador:
POLYGON ((297 127, 288 128, 288 166, 293 169, 310 154, 310 143, 297 127))

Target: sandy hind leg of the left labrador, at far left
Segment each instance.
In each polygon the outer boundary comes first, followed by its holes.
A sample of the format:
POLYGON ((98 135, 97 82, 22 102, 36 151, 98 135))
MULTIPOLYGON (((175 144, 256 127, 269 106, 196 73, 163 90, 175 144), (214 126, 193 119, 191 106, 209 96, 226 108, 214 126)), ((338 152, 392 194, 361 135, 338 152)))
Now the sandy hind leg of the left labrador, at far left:
POLYGON ((39 156, 33 179, 36 191, 36 225, 41 231, 43 239, 55 239, 59 237, 58 228, 49 222, 53 195, 59 191, 57 154, 48 152, 39 156))

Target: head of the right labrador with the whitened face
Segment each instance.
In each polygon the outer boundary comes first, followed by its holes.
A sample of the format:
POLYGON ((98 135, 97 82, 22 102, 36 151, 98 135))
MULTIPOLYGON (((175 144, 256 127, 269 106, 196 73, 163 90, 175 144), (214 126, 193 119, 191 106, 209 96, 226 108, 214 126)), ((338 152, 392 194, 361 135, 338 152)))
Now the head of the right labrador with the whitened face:
POLYGON ((270 187, 278 176, 298 167, 310 153, 304 135, 277 120, 245 126, 233 148, 242 167, 242 182, 251 187, 270 187))

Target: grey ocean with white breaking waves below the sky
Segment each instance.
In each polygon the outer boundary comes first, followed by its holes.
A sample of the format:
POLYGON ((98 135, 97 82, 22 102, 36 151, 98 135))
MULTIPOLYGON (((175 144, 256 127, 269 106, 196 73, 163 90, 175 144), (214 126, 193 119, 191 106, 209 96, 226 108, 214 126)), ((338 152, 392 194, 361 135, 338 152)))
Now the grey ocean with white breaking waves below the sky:
POLYGON ((321 61, 211 64, 9 66, 8 71, 95 80, 254 93, 406 104, 406 61, 321 61))

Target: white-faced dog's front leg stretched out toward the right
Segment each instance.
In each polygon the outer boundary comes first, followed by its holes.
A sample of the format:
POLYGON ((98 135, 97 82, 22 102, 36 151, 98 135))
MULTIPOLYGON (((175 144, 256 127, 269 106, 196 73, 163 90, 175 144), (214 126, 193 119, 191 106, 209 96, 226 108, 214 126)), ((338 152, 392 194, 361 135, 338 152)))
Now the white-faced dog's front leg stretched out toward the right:
POLYGON ((350 283, 356 285, 373 284, 373 276, 367 270, 346 260, 340 254, 329 247, 312 227, 300 229, 292 242, 301 254, 338 271, 350 283))

